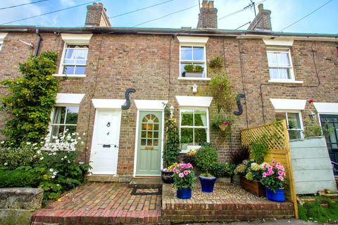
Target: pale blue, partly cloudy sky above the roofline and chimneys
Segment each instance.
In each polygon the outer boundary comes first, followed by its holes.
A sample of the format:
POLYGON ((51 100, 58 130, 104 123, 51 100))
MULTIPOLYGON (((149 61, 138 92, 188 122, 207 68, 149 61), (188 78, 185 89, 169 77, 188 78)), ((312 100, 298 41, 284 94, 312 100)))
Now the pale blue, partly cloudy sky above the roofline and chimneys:
MULTIPOLYGON (((2 0, 0 8, 33 1, 38 0, 2 0)), ((91 4, 89 3, 90 1, 91 0, 48 0, 26 6, 0 9, 0 24, 84 4, 84 6, 8 24, 37 25, 44 27, 80 27, 84 25, 87 11, 86 5, 91 4)), ((263 0, 255 1, 258 3, 263 0)), ((338 0, 330 1, 330 3, 318 11, 315 11, 312 15, 284 29, 296 22, 296 20, 303 18, 306 14, 322 6, 327 1, 330 0, 265 0, 263 4, 265 9, 271 11, 271 23, 273 31, 275 32, 282 30, 283 32, 338 34, 338 0)), ((163 15, 189 8, 160 20, 138 25, 137 27, 195 28, 199 14, 199 0, 101 0, 98 2, 104 4, 109 17, 165 2, 142 11, 111 18, 113 27, 134 27, 139 23, 144 23, 148 20, 160 18, 163 15)), ((255 17, 253 8, 248 8, 242 12, 220 19, 225 15, 237 12, 245 6, 248 6, 250 4, 249 0, 215 0, 214 4, 215 8, 218 8, 219 29, 234 30, 237 27, 249 23, 255 17)), ((258 12, 257 6, 256 11, 258 12)), ((240 30, 246 30, 248 26, 249 25, 245 25, 241 27, 240 30)))

